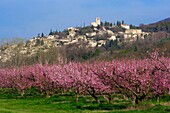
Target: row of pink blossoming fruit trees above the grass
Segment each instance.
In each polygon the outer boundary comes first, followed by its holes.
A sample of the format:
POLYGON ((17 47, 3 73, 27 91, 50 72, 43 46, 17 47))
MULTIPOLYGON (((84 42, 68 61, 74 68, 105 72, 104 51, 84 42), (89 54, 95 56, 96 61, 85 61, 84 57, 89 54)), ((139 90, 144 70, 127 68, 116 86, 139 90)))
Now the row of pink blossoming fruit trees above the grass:
POLYGON ((143 60, 113 60, 95 63, 68 63, 65 65, 34 65, 0 69, 0 88, 15 89, 22 96, 35 88, 47 96, 59 92, 99 96, 112 101, 120 93, 138 104, 148 96, 170 94, 170 58, 153 55, 143 60))

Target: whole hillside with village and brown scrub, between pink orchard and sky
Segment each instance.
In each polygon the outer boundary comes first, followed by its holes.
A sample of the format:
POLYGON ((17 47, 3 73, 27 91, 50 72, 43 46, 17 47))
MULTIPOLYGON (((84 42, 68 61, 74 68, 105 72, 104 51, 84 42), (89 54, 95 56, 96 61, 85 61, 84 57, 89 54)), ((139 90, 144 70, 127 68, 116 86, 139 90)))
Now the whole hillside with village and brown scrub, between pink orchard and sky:
POLYGON ((152 31, 148 26, 164 28, 170 19, 143 25, 141 29, 120 22, 117 25, 98 22, 97 19, 91 26, 51 30, 47 36, 42 33, 26 42, 17 39, 4 43, 0 47, 0 67, 144 58, 148 51, 155 49, 169 56, 170 33, 152 31))

